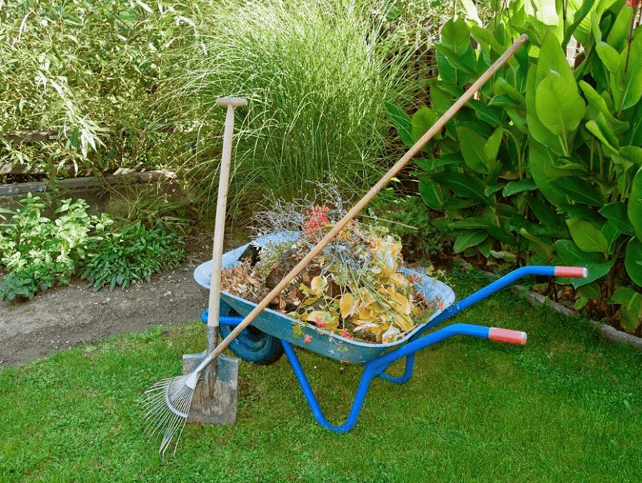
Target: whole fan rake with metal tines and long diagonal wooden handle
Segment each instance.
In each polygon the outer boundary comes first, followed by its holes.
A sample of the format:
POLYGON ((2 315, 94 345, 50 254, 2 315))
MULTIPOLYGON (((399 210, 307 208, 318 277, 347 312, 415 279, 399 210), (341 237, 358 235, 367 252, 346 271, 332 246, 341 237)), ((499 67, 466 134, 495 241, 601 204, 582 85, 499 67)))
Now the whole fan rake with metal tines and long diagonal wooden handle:
MULTIPOLYGON (((499 57, 493 65, 491 65, 486 72, 484 72, 477 81, 475 81, 469 88, 468 90, 462 95, 461 98, 455 102, 449 110, 442 115, 441 118, 437 120, 436 123, 430 128, 427 133, 425 133, 421 139, 419 139, 414 146, 412 146, 405 155, 397 161, 393 167, 390 168, 390 170, 375 184, 369 192, 365 194, 365 196, 360 199, 357 204, 355 204, 354 207, 350 209, 345 216, 340 219, 337 224, 335 224, 332 229, 330 229, 330 232, 328 232, 325 237, 321 239, 312 249, 310 252, 303 257, 303 259, 288 273, 282 281, 280 281, 277 286, 270 291, 265 298, 263 298, 263 301, 260 301, 258 305, 248 313, 248 316, 246 316, 243 321, 241 321, 238 326, 234 328, 233 331, 230 332, 230 334, 225 337, 223 342, 221 342, 213 351, 208 353, 208 355, 205 356, 205 358, 202 360, 202 362, 198 365, 195 370, 193 370, 192 373, 189 375, 184 375, 183 377, 179 378, 169 378, 160 381, 159 383, 156 383, 153 388, 149 389, 148 392, 153 393, 151 396, 151 408, 148 411, 148 419, 152 420, 152 423, 154 420, 156 420, 156 425, 157 425, 157 430, 165 430, 165 437, 163 439, 163 444, 169 445, 173 437, 177 435, 178 433, 178 438, 180 438, 180 433, 183 430, 183 427, 185 425, 185 418, 187 417, 187 413, 190 410, 190 404, 192 402, 192 398, 194 395, 195 388, 198 385, 198 380, 201 376, 201 374, 205 371, 206 368, 210 364, 212 364, 215 360, 218 360, 220 354, 227 348, 230 343, 238 336, 243 329, 245 329, 247 326, 252 323, 252 321, 261 313, 267 306, 270 304, 270 302, 278 295, 280 292, 285 289, 285 287, 290 284, 290 282, 295 279, 295 277, 300 274, 300 272, 305 268, 307 264, 312 261, 312 259, 315 258, 322 249, 330 242, 332 238, 334 238, 342 229, 345 227, 345 225, 352 220, 358 212, 365 207, 365 205, 370 202, 370 200, 374 197, 375 194, 377 194, 387 183, 397 175, 399 170, 402 169, 409 160, 414 157, 414 155, 419 152, 419 150, 435 135, 437 134, 446 123, 453 118, 453 116, 459 111, 459 109, 462 108, 462 106, 470 100, 475 93, 477 93, 477 90, 481 88, 481 85, 484 85, 486 81, 489 80, 493 76, 493 74, 508 61, 508 59, 517 51, 518 48, 521 47, 521 45, 528 40, 528 36, 526 34, 522 35, 517 39, 517 41, 509 47, 509 49, 502 54, 501 57, 499 57), (163 407, 164 406, 164 407, 163 407), (183 418, 182 420, 180 420, 183 418)), ((215 271, 220 272, 220 267, 219 269, 215 269, 213 267, 212 272, 214 273, 215 271)), ((217 395, 217 397, 220 397, 221 395, 217 395)), ((177 438, 177 442, 178 442, 177 438)), ((161 446, 162 448, 162 446, 161 446)), ((174 450, 175 451, 175 450, 174 450)))

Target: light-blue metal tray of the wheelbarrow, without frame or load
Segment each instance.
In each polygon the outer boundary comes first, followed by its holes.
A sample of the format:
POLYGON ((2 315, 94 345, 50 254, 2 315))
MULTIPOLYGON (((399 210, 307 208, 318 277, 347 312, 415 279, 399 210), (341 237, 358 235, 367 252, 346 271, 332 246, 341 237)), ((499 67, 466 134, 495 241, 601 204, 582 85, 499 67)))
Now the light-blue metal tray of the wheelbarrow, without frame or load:
MULTIPOLYGON (((261 237, 253 241, 255 246, 264 246, 268 243, 282 243, 283 241, 294 241, 299 236, 298 232, 280 232, 261 237)), ((240 256, 250 244, 239 246, 237 249, 228 251, 223 254, 222 269, 233 267, 239 263, 240 256)), ((210 286, 210 274, 212 270, 212 261, 206 261, 200 264, 194 271, 195 281, 205 289, 210 286)), ((426 326, 432 319, 439 316, 446 308, 452 305, 455 301, 455 295, 452 289, 440 281, 434 280, 426 274, 411 269, 402 269, 402 273, 406 275, 415 275, 418 277, 415 282, 417 292, 422 293, 427 301, 434 301, 435 312, 427 318, 422 324, 415 326, 412 331, 409 331, 403 338, 391 343, 367 343, 362 341, 355 341, 341 337, 338 334, 325 331, 322 328, 314 326, 310 323, 302 323, 296 321, 283 313, 274 311, 270 308, 263 310, 252 322, 252 325, 258 330, 263 331, 270 336, 287 341, 295 346, 300 346, 312 352, 325 355, 329 358, 341 360, 346 363, 367 363, 368 361, 377 358, 385 351, 406 343, 426 326), (302 336, 295 336, 292 331, 293 324, 300 323, 302 328, 302 336), (306 336, 310 336, 308 343, 305 342, 306 336)), ((228 292, 221 291, 221 300, 227 303, 242 317, 248 316, 248 313, 253 311, 256 304, 240 298, 228 292)))

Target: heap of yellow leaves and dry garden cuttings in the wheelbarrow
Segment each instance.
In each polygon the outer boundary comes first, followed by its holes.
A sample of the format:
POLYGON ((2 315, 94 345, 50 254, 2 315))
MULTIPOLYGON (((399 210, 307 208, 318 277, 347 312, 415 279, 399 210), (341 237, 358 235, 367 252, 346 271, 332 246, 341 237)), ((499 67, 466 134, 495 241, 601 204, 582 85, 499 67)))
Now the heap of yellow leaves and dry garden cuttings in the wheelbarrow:
MULTIPOLYGON (((281 202, 260 213, 260 234, 296 230, 297 237, 248 250, 252 253, 246 252, 240 264, 223 271, 221 288, 258 303, 344 214, 340 204, 306 202, 281 202)), ((401 249, 385 230, 352 221, 270 308, 295 320, 298 336, 303 336, 302 323, 310 323, 347 339, 397 341, 441 303, 425 300, 415 277, 402 273, 401 249)))

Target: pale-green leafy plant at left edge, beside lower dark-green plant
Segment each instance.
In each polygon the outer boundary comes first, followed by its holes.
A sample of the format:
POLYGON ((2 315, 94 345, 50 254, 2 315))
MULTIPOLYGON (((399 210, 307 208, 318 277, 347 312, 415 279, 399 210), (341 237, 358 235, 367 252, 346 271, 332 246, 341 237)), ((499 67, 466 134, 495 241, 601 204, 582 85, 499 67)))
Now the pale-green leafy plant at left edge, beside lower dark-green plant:
POLYGON ((57 219, 42 215, 46 204, 29 195, 0 232, 0 262, 8 272, 0 282, 0 300, 33 297, 39 290, 68 284, 78 263, 91 250, 92 233, 101 232, 111 219, 87 214, 83 199, 65 199, 57 219))

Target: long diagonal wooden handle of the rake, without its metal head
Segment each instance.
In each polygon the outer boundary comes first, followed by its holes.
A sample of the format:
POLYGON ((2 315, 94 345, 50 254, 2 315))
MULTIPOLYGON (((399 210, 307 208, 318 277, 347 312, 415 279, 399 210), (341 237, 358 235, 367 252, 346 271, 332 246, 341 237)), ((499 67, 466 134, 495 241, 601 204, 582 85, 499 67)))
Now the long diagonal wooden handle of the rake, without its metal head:
MULTIPOLYGON (((289 274, 287 274, 283 279, 280 281, 277 286, 275 286, 272 291, 270 291, 269 294, 263 298, 260 303, 251 311, 248 313, 248 316, 246 316, 241 323, 238 324, 234 328, 230 334, 221 341, 221 343, 203 360, 203 363, 201 363, 198 368, 196 368, 195 372, 202 371, 208 364, 212 363, 212 361, 220 355, 220 353, 227 348, 230 343, 238 336, 247 326, 252 323, 252 321, 258 316, 259 313, 263 311, 263 309, 267 308, 267 306, 270 304, 270 302, 278 295, 281 293, 285 287, 290 284, 292 280, 295 279, 295 277, 301 273, 303 269, 305 269, 305 266, 312 261, 312 259, 315 258, 318 254, 321 253, 322 249, 325 248, 325 246, 332 240, 344 227, 345 225, 352 220, 357 213, 359 213, 365 205, 370 202, 370 200, 374 197, 375 194, 377 194, 381 189, 387 185, 387 183, 394 177, 394 175, 397 175, 397 173, 404 167, 409 160, 412 159, 414 155, 417 154, 417 152, 424 147, 424 145, 432 139, 432 137, 439 133, 439 131, 442 130, 444 125, 453 118, 455 114, 464 106, 465 103, 467 103, 472 96, 477 93, 477 90, 481 88, 482 85, 486 83, 486 81, 491 78, 496 71, 499 70, 501 66, 508 61, 508 59, 522 46, 524 42, 528 40, 528 36, 526 34, 522 35, 519 37, 513 45, 509 47, 509 49, 504 52, 501 57, 499 57, 492 66, 490 66, 486 72, 484 72, 477 81, 471 85, 468 90, 460 97, 457 102, 455 102, 449 110, 442 115, 441 118, 437 120, 436 123, 430 128, 427 133, 425 133, 421 139, 419 139, 417 142, 414 143, 414 146, 412 146, 403 157, 397 161, 393 167, 390 168, 390 170, 377 182, 376 185, 374 185, 369 192, 365 194, 362 199, 360 199, 355 206, 350 209, 347 214, 345 214, 345 217, 343 217, 337 224, 335 224, 332 229, 330 229, 330 232, 328 232, 325 237, 321 239, 312 249, 310 252, 303 257, 303 259, 290 271, 289 274)), ((199 372, 200 373, 200 372, 199 372)))

